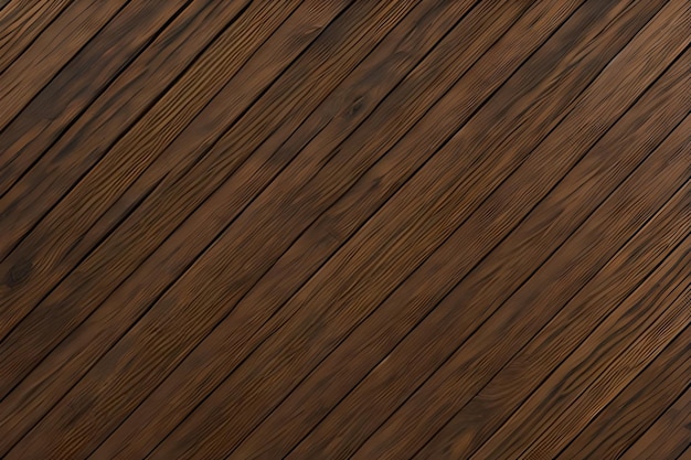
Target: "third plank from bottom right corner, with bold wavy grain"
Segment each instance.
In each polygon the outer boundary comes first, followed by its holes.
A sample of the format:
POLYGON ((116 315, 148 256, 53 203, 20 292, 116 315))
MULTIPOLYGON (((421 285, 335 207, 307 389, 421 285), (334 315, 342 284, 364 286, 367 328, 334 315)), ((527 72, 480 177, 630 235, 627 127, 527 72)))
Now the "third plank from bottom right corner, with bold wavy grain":
MULTIPOLYGON (((688 253, 691 256, 691 252, 688 253)), ((689 267, 691 257, 683 261, 685 267, 689 267)), ((556 406, 562 407, 563 410, 559 418, 553 419, 553 424, 543 431, 542 436, 536 437, 538 430, 533 431, 527 440, 523 441, 528 445, 530 439, 535 441, 528 447, 528 449, 521 454, 521 459, 541 459, 541 458, 554 458, 559 452, 566 447, 568 441, 573 439, 585 426, 595 417, 603 407, 605 407, 609 400, 628 385, 655 357, 685 328, 691 324, 691 278, 688 272, 683 270, 681 272, 680 289, 676 292, 670 292, 669 297, 663 299, 659 304, 656 302, 650 306, 653 311, 662 311, 660 317, 650 324, 638 340, 635 342, 626 342, 629 350, 625 350, 614 362, 599 370, 598 374, 593 374, 594 382, 585 392, 573 402, 573 404, 566 407, 568 398, 564 398, 556 406), (685 289, 684 289, 685 287, 685 289), (679 292, 681 291, 681 293, 679 292)), ((608 324, 609 328, 614 325, 608 324)), ((598 346, 608 345, 612 340, 617 340, 618 336, 598 338, 597 340, 588 340, 584 346, 587 346, 587 342, 591 342, 591 346, 597 349, 598 346), (597 343, 599 341, 599 343, 597 343), (596 342, 593 344, 593 342, 596 342)), ((592 353, 592 350, 585 351, 585 353, 592 353)), ((577 361, 581 356, 573 356, 573 360, 577 361)), ((565 373, 572 373, 572 367, 575 366, 571 362, 564 363, 564 365, 556 371, 555 375, 560 375, 562 368, 566 368, 565 373)), ((588 374, 587 371, 584 374, 588 374)), ((560 375, 561 376, 561 375, 560 375)), ((589 382, 589 378, 586 381, 589 382)), ((548 384, 549 385, 549 384, 548 384)), ((577 387, 577 385, 575 385, 577 387)), ((553 389, 552 389, 553 392, 553 389)), ((520 414, 523 407, 530 405, 530 400, 519 409, 520 414)), ((520 417, 520 416, 519 416, 520 417)), ((534 421, 538 421, 533 419, 534 421)), ((539 420, 542 422, 543 420, 539 420)), ((676 441, 673 437, 669 439, 671 446, 668 446, 670 450, 676 447, 676 453, 679 454, 685 446, 679 446, 679 443, 685 443, 685 436, 688 431, 682 430, 676 441), (681 439, 679 439, 681 438, 681 439), (673 442, 673 443, 672 443, 673 442), (681 447, 681 449, 680 449, 681 447)), ((660 448, 659 453, 663 453, 660 448)), ((671 452, 670 452, 671 453, 671 452)), ((483 457, 479 457, 483 458, 483 457)), ((662 457, 665 458, 665 456, 662 457)))

